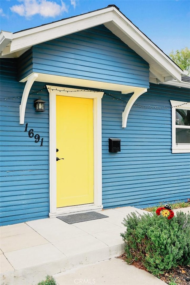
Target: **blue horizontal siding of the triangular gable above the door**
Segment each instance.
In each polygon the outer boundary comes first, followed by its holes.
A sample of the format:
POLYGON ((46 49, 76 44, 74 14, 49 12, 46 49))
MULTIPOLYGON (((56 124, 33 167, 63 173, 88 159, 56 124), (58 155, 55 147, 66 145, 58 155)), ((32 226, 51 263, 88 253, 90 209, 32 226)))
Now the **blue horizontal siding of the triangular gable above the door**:
POLYGON ((148 63, 103 25, 32 50, 33 72, 149 87, 148 63))

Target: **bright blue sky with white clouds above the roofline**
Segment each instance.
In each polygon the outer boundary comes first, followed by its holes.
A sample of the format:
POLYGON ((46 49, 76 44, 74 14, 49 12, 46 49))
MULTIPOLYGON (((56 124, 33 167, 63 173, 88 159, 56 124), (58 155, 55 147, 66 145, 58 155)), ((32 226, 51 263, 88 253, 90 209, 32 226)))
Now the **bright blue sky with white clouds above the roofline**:
POLYGON ((115 4, 165 53, 190 47, 189 0, 0 0, 0 29, 16 32, 115 4))

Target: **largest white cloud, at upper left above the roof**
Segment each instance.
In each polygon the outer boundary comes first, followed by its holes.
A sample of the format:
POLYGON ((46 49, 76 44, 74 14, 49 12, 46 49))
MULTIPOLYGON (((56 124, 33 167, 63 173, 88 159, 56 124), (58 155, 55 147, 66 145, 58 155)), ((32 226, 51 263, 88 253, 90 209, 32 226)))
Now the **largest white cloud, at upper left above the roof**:
POLYGON ((63 12, 67 12, 67 7, 63 1, 60 5, 49 0, 19 0, 19 2, 22 2, 22 4, 13 5, 10 9, 12 12, 26 18, 31 18, 37 14, 45 18, 56 17, 63 12))

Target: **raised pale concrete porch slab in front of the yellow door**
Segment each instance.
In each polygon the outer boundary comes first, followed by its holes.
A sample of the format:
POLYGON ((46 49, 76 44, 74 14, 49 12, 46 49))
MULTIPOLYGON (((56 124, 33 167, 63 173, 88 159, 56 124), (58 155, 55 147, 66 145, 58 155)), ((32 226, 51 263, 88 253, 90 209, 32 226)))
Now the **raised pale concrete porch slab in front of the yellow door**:
MULTIPOLYGON (((120 233, 125 231, 122 221, 126 214, 136 210, 138 213, 145 212, 133 207, 123 207, 101 212, 109 218, 71 225, 52 218, 1 227, 1 285, 36 285, 47 275, 73 268, 82 270, 85 265, 119 256, 124 252, 124 242, 120 237, 120 233)), ((188 210, 190 208, 183 211, 188 210)), ((112 262, 109 264, 113 266, 112 262)), ((134 270, 139 272, 135 274, 142 271, 134 270)), ((130 274, 134 278, 133 270, 130 274)), ((56 278, 59 276, 56 275, 56 278)), ((97 282, 101 281, 97 279, 97 282)), ((124 284, 132 285, 130 282, 124 284)), ((153 284, 157 283, 154 281, 153 284)))

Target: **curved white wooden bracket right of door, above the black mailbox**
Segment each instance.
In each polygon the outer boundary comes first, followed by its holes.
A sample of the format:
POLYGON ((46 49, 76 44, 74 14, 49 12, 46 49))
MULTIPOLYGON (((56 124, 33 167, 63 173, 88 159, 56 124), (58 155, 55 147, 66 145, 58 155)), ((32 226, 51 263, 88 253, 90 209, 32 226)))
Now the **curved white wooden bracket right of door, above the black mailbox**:
POLYGON ((129 115, 129 112, 134 104, 134 102, 137 100, 137 98, 142 95, 143 93, 147 92, 147 88, 139 88, 134 91, 134 94, 131 96, 129 101, 127 102, 127 105, 125 107, 124 112, 122 113, 122 128, 126 128, 127 125, 127 118, 129 115))

